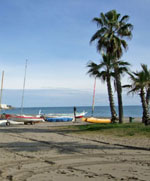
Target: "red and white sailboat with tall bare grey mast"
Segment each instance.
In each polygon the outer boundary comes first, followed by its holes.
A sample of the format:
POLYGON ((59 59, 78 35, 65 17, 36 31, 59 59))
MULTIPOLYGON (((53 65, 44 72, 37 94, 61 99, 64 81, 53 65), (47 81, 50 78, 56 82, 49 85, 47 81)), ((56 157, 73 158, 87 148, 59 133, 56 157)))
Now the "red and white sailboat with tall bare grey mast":
POLYGON ((11 123, 11 121, 16 121, 16 122, 23 122, 24 124, 34 124, 37 122, 45 122, 43 118, 41 118, 39 115, 38 116, 33 116, 33 115, 25 115, 23 114, 23 102, 24 102, 24 90, 25 90, 25 82, 26 82, 26 71, 27 71, 27 60, 25 64, 25 75, 24 75, 24 82, 23 82, 23 93, 22 93, 22 101, 21 101, 21 114, 20 115, 13 115, 13 114, 5 114, 5 119, 7 119, 7 124, 11 123))

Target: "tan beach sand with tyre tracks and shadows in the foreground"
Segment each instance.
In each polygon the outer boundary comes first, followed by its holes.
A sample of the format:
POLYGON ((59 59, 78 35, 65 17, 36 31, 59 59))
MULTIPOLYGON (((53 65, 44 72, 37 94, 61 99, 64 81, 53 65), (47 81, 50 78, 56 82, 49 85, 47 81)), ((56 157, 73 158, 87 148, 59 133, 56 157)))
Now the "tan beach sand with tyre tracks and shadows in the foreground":
POLYGON ((0 127, 0 180, 150 180, 148 139, 91 137, 59 129, 71 124, 80 123, 0 127))

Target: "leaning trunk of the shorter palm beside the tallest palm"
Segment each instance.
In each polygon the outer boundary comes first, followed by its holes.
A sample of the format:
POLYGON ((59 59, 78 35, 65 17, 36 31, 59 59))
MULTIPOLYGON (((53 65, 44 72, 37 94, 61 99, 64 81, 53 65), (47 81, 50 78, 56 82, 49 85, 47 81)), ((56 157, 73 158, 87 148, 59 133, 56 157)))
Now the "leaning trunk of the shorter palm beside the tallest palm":
POLYGON ((109 104, 110 104, 110 111, 111 111, 111 121, 112 123, 114 123, 115 120, 117 119, 117 114, 115 110, 110 77, 107 77, 107 90, 108 90, 108 97, 109 97, 109 104))

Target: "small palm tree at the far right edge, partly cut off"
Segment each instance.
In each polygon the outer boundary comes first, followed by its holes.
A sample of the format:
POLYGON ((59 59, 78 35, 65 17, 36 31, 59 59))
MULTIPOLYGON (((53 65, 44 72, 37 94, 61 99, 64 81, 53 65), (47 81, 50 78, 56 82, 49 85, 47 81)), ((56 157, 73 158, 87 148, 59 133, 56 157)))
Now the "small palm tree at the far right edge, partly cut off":
MULTIPOLYGON (((142 65, 143 68, 143 65, 142 65)), ((125 85, 124 87, 128 87, 130 91, 128 93, 138 93, 141 98, 142 108, 143 108, 143 116, 142 116, 142 122, 145 123, 145 125, 150 124, 149 122, 149 115, 148 115, 148 104, 146 102, 146 88, 148 83, 148 77, 147 74, 144 72, 144 70, 139 72, 132 72, 129 73, 130 79, 131 79, 131 85, 125 85)))

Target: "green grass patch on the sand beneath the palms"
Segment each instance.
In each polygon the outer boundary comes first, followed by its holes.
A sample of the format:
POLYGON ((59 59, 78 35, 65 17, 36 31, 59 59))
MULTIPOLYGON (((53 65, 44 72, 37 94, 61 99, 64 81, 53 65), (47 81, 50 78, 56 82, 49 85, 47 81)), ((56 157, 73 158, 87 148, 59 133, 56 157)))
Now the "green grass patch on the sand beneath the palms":
POLYGON ((80 133, 99 133, 114 136, 146 136, 150 137, 150 126, 142 123, 124 123, 124 124, 88 124, 69 126, 70 130, 76 130, 80 133))

